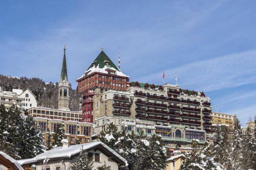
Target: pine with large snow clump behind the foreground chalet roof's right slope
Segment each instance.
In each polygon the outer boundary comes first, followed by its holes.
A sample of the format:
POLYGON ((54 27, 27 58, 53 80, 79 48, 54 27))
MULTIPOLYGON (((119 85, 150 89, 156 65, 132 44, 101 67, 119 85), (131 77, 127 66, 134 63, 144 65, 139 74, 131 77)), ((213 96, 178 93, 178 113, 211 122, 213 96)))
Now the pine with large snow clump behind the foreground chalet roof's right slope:
POLYGON ((100 141, 108 145, 113 150, 117 150, 116 142, 118 138, 120 137, 120 133, 117 132, 116 125, 111 122, 108 127, 106 128, 106 131, 100 132, 100 141))

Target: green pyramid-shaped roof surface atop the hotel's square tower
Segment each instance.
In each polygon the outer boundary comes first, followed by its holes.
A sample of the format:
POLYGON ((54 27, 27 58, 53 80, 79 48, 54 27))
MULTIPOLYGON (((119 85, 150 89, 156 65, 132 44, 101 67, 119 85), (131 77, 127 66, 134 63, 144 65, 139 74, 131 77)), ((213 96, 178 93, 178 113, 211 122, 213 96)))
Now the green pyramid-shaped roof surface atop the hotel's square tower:
POLYGON ((90 68, 93 67, 93 64, 95 64, 95 67, 98 66, 99 64, 99 68, 104 68, 105 66, 105 62, 108 62, 109 65, 116 69, 117 71, 120 71, 118 69, 118 67, 110 60, 110 58, 108 58, 108 56, 104 53, 104 51, 101 51, 100 54, 98 55, 98 57, 94 60, 94 62, 92 62, 92 64, 89 66, 89 68, 87 70, 89 70, 90 68))

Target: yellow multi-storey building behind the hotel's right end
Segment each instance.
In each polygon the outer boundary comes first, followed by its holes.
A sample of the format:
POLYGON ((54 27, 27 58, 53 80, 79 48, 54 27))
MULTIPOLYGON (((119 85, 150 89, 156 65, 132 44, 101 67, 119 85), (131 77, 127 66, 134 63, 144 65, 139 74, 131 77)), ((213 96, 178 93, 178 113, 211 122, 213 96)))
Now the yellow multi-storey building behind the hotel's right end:
POLYGON ((212 111, 212 124, 214 125, 228 125, 230 129, 233 129, 236 115, 228 113, 220 113, 212 111))

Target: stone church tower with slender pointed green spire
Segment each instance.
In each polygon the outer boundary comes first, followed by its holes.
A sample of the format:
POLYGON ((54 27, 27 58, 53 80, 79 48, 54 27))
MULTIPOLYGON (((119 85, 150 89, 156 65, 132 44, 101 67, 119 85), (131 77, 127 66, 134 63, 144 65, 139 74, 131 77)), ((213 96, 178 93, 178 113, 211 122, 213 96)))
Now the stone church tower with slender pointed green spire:
POLYGON ((60 83, 58 86, 59 96, 58 96, 58 109, 68 109, 69 101, 69 84, 68 84, 68 72, 66 64, 66 45, 64 45, 64 56, 62 61, 62 69, 60 74, 60 83))

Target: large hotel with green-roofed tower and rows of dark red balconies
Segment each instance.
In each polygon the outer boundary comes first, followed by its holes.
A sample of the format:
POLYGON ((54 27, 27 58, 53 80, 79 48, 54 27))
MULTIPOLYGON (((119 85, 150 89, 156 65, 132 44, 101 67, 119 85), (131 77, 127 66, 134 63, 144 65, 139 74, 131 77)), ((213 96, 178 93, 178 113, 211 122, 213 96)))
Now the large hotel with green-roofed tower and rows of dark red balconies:
POLYGON ((204 92, 178 85, 130 82, 103 50, 76 81, 84 122, 122 116, 152 121, 162 131, 180 126, 212 133, 212 107, 204 92))

